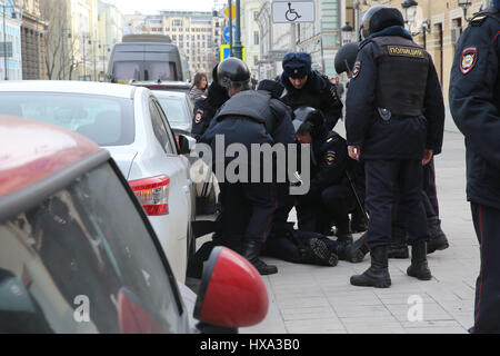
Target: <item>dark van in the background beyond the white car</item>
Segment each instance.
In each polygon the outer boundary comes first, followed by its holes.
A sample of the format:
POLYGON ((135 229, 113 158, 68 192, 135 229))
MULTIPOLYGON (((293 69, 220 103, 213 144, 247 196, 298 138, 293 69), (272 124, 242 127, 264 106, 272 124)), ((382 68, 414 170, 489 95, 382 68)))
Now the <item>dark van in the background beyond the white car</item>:
POLYGON ((189 69, 179 48, 162 34, 126 34, 111 51, 108 78, 130 80, 189 80, 189 69))

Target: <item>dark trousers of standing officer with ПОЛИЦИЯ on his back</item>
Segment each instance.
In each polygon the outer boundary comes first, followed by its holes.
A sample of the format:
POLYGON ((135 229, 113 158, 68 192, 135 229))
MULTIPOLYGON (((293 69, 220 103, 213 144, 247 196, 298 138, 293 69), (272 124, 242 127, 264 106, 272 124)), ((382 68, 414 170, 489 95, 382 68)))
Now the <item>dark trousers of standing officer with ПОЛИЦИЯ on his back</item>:
POLYGON ((367 160, 366 207, 370 215, 370 249, 387 246, 392 230, 394 206, 409 234, 409 244, 429 239, 422 205, 422 164, 420 160, 367 160))

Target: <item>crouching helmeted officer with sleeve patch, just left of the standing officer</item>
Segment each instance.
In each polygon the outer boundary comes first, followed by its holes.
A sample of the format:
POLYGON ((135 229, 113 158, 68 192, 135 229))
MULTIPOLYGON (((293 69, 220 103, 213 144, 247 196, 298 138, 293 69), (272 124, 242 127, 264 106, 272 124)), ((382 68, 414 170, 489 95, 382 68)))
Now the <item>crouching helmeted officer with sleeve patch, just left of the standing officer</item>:
POLYGON ((297 198, 299 229, 328 234, 334 221, 338 241, 352 243, 349 212, 356 208, 356 198, 346 176, 349 156, 346 140, 336 131, 327 131, 324 117, 309 108, 296 110, 297 139, 311 145, 311 182, 309 192, 297 198))

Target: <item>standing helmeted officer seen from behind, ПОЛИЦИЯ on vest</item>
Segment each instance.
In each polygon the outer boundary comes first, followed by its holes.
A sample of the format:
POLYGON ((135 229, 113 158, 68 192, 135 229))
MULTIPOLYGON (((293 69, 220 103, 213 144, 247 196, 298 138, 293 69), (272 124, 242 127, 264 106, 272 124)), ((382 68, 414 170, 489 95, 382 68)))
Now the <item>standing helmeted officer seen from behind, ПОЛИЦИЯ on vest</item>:
POLYGON ((412 41, 399 10, 376 6, 362 19, 363 41, 347 96, 349 156, 364 160, 371 266, 354 286, 387 288, 388 245, 399 191, 412 246, 409 276, 431 279, 429 231, 422 206, 422 164, 440 151, 444 125, 441 87, 430 56, 412 41))

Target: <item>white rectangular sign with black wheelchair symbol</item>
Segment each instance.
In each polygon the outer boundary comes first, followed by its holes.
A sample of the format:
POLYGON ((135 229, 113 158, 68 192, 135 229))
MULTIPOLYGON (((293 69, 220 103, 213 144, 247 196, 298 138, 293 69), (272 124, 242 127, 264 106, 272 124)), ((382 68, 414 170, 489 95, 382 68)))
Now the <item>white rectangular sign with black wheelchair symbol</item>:
POLYGON ((273 1, 273 23, 314 22, 314 2, 312 1, 273 1))

